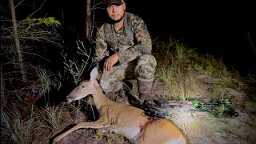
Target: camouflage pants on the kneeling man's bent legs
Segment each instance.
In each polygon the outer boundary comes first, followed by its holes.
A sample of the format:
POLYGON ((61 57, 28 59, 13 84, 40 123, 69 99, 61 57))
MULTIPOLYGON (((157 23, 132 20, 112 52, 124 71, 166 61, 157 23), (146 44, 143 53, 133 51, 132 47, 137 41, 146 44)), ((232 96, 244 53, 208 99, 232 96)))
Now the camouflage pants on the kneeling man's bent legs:
POLYGON ((100 85, 102 86, 102 90, 110 93, 116 81, 132 78, 152 79, 154 78, 156 66, 157 61, 153 55, 141 55, 132 62, 113 66, 110 71, 103 70, 100 85))

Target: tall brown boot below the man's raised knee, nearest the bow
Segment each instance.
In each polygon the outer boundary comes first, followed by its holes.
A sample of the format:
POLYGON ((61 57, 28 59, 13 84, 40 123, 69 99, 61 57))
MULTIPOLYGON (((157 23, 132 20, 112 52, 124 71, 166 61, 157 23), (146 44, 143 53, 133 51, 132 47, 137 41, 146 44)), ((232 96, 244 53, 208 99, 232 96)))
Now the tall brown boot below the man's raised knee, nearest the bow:
POLYGON ((138 79, 138 93, 139 93, 139 105, 142 105, 145 100, 148 100, 150 97, 150 92, 153 86, 154 78, 152 79, 138 79))

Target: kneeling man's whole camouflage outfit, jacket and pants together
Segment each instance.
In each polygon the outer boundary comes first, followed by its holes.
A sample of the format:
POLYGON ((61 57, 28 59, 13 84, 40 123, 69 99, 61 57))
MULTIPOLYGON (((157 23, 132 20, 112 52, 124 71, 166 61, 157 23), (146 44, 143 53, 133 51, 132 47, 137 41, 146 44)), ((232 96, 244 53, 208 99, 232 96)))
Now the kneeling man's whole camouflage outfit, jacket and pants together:
MULTIPOLYGON (((151 55, 150 33, 142 18, 126 12, 124 26, 115 32, 114 26, 105 23, 99 27, 96 35, 96 63, 114 53, 118 54, 118 66, 104 70, 101 79, 102 89, 109 93, 115 81, 129 78, 154 78, 156 59, 151 55)), ((96 66, 99 66, 96 64, 96 66)))

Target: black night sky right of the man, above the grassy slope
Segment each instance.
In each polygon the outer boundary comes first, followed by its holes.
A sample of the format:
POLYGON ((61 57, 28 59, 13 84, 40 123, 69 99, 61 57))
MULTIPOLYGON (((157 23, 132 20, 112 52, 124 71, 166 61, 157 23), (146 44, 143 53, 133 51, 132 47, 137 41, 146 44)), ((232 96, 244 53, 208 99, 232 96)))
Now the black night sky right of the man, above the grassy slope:
POLYGON ((256 43, 252 2, 156 2, 128 0, 127 11, 140 15, 158 38, 182 39, 200 52, 224 57, 240 70, 256 69, 256 54, 246 38, 249 32, 256 43))

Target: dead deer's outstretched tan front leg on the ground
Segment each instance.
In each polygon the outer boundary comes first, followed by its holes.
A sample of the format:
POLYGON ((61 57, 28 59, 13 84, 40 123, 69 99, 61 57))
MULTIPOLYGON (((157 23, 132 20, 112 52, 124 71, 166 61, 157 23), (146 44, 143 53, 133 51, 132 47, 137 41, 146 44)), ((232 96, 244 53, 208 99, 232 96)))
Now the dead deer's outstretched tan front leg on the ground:
POLYGON ((74 130, 78 130, 81 128, 99 129, 99 128, 108 127, 108 126, 109 125, 108 125, 106 116, 99 118, 98 121, 95 121, 95 122, 81 122, 81 123, 78 123, 76 126, 72 127, 70 130, 67 130, 65 133, 54 138, 53 144, 56 144, 59 140, 66 137, 67 134, 72 133, 74 130))

